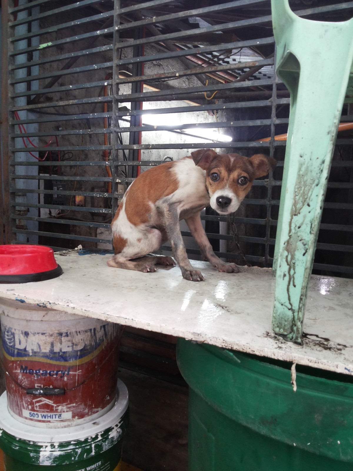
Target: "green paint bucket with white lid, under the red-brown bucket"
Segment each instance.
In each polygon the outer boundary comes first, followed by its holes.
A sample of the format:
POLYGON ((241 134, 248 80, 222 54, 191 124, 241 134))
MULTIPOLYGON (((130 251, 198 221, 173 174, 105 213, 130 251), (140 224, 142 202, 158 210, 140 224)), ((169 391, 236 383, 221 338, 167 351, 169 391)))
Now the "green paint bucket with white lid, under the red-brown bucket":
POLYGON ((102 417, 67 429, 40 430, 18 422, 0 397, 0 448, 6 471, 120 471, 128 426, 128 390, 118 380, 117 400, 102 417), (47 469, 47 468, 45 468, 47 469))

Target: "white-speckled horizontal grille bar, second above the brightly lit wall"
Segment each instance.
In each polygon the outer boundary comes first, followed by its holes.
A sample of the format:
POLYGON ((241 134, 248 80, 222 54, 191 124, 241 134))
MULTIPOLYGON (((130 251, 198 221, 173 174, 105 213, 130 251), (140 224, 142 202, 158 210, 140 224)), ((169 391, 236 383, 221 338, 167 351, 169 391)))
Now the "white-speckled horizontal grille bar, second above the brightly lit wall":
MULTIPOLYGON (((252 60, 247 62, 237 62, 225 65, 208 65, 203 67, 202 65, 198 65, 193 67, 192 69, 185 69, 179 71, 172 71, 172 72, 164 72, 164 73, 153 73, 150 75, 139 75, 139 76, 130 76, 123 79, 117 79, 115 83, 132 83, 132 82, 140 82, 140 81, 151 81, 154 79, 164 79, 170 77, 186 77, 188 75, 197 75, 199 73, 210 73, 210 72, 222 72, 222 71, 230 71, 230 70, 243 70, 243 69, 250 69, 252 67, 257 67, 262 65, 265 67, 266 65, 273 65, 274 61, 273 58, 271 59, 260 59, 260 60, 252 60)), ((271 80, 271 79, 270 79, 271 80)), ((236 82, 236 80, 234 80, 236 82)), ((168 90, 170 92, 170 90, 168 90)), ((187 91, 185 93, 188 93, 187 91)))

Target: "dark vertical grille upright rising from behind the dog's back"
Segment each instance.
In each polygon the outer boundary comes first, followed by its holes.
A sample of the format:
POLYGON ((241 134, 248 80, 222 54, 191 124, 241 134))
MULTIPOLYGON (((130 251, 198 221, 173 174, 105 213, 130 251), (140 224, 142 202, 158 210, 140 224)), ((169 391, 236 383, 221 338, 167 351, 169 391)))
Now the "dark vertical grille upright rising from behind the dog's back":
POLYGON ((112 211, 113 217, 115 211, 118 208, 118 200, 114 198, 114 194, 117 192, 117 176, 118 176, 118 167, 116 162, 119 161, 119 151, 116 148, 118 143, 118 134, 114 129, 119 128, 119 118, 117 113, 119 112, 119 100, 117 100, 117 95, 119 95, 119 84, 116 83, 119 78, 119 65, 118 65, 118 53, 120 49, 117 49, 116 45, 119 42, 119 30, 118 26, 120 24, 120 14, 116 13, 120 10, 120 0, 114 0, 114 32, 113 32, 113 77, 112 77, 112 211))

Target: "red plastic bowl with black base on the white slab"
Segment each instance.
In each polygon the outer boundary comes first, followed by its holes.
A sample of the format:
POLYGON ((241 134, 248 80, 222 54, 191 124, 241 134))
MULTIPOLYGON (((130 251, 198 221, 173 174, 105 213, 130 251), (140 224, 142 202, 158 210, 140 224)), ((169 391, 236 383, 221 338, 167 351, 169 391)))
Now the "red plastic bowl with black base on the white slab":
POLYGON ((0 282, 43 281, 63 273, 44 245, 0 245, 0 282), (18 279, 18 281, 16 281, 18 279))

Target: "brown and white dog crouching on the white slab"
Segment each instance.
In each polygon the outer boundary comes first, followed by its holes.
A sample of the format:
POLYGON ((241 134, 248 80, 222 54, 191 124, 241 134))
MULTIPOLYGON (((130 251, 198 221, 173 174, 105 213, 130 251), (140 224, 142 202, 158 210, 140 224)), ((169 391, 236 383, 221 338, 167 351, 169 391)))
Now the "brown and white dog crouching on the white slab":
POLYGON ((218 271, 240 272, 213 252, 200 212, 209 205, 221 215, 236 211, 253 180, 267 175, 276 163, 262 154, 246 158, 200 149, 144 171, 128 188, 112 220, 115 255, 108 265, 143 272, 156 271, 156 265, 175 265, 171 257, 146 256, 169 240, 183 278, 202 281, 186 255, 179 227, 179 220, 185 219, 206 260, 218 271))

